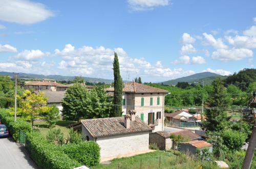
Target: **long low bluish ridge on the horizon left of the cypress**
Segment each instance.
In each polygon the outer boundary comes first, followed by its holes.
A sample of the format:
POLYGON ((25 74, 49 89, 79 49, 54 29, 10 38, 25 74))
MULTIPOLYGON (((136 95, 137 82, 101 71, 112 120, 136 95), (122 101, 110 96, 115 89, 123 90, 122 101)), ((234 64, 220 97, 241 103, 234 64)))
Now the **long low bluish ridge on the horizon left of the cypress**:
MULTIPOLYGON (((12 72, 0 72, 0 75, 8 75, 8 76, 13 76, 12 72)), ((18 73, 18 77, 19 78, 23 78, 23 79, 48 79, 48 80, 57 80, 57 81, 61 81, 61 80, 73 80, 75 78, 75 76, 61 76, 61 75, 42 75, 42 74, 30 74, 30 73, 18 73)), ((98 83, 98 82, 104 82, 106 84, 110 84, 112 83, 114 80, 111 79, 103 79, 103 78, 92 78, 92 77, 83 77, 84 80, 86 80, 87 82, 91 82, 91 83, 98 83)))

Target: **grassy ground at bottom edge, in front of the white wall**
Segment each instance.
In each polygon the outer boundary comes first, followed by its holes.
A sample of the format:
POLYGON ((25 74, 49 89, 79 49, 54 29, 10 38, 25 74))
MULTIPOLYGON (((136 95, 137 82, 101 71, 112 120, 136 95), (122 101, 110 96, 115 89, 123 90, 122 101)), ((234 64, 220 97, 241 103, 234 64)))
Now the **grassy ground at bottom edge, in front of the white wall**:
POLYGON ((112 160, 111 164, 99 164, 92 168, 199 168, 199 166, 198 161, 184 154, 178 156, 178 159, 176 159, 176 155, 173 151, 155 151, 133 157, 116 158, 112 160))

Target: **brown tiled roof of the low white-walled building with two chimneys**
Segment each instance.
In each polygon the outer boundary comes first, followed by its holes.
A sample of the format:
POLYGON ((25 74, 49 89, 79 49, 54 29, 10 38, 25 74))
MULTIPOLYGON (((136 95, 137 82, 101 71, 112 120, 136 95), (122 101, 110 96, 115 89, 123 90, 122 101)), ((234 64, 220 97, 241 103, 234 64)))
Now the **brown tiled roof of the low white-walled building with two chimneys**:
POLYGON ((93 137, 129 134, 143 131, 152 131, 152 128, 140 120, 130 121, 130 128, 124 127, 124 117, 87 119, 80 122, 93 137))

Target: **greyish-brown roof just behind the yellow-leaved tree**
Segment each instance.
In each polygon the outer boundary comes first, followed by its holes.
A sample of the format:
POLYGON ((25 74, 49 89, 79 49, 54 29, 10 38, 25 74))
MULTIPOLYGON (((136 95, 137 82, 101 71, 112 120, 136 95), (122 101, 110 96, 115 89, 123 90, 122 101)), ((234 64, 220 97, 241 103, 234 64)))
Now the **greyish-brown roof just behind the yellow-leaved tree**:
MULTIPOLYGON (((47 97, 47 103, 61 103, 62 99, 65 97, 66 91, 43 91, 45 93, 44 97, 47 97)), ((39 93, 35 91, 35 93, 39 93)))

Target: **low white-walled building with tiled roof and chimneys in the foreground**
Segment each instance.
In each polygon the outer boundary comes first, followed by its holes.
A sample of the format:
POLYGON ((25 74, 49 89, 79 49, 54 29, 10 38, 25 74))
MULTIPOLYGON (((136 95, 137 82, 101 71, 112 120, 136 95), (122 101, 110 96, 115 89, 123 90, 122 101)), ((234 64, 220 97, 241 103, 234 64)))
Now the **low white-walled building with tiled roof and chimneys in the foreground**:
POLYGON ((136 111, 130 111, 124 117, 81 120, 70 127, 81 130, 87 140, 99 145, 101 161, 145 153, 150 151, 148 145, 152 128, 135 114, 136 111))

